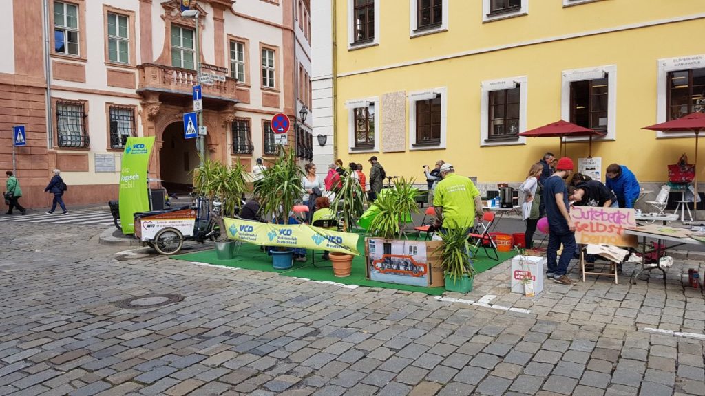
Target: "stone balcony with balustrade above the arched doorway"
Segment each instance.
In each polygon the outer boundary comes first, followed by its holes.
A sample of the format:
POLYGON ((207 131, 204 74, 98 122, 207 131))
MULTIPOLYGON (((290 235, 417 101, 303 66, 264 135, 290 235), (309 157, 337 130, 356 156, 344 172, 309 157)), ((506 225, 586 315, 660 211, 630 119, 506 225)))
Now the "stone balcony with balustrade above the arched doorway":
MULTIPOLYGON (((176 68, 173 66, 143 63, 140 69, 140 91, 164 92, 171 94, 192 95, 194 85, 198 85, 195 70, 176 68)), ((214 85, 202 84, 204 99, 221 99, 237 101, 238 94, 235 89, 237 80, 226 77, 225 82, 214 81, 214 85)))

